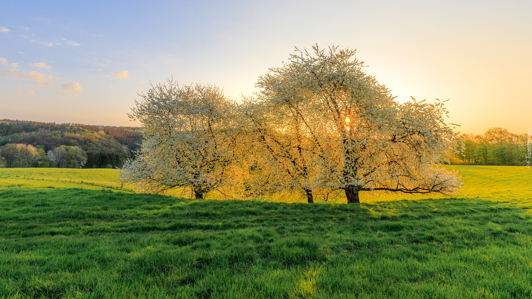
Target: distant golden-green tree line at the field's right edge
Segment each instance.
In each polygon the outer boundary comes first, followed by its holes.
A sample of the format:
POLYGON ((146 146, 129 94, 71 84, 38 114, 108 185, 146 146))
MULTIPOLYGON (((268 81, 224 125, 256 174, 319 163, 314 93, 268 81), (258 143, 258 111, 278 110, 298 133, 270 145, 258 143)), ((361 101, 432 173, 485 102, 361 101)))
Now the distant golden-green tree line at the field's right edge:
POLYGON ((525 165, 526 134, 513 134, 508 129, 489 128, 483 135, 463 134, 463 152, 456 154, 453 164, 525 165))

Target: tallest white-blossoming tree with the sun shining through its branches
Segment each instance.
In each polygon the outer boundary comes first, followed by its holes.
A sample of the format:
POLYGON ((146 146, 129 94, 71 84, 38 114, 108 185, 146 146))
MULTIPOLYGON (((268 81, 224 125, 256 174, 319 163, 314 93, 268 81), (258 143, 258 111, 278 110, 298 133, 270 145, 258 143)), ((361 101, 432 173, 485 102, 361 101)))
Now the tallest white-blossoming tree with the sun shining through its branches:
MULTIPOLYGON (((257 87, 263 101, 300 118, 302 134, 322 159, 315 164, 321 175, 314 184, 344 190, 348 203, 359 203, 360 191, 454 194, 460 189, 457 173, 442 167, 457 140, 444 122, 442 102, 412 97, 400 104, 362 70, 355 51, 312 48, 311 53, 296 48, 298 54, 270 69, 257 87), (331 160, 338 156, 339 161, 331 160)), ((284 132, 282 126, 277 130, 284 132)))

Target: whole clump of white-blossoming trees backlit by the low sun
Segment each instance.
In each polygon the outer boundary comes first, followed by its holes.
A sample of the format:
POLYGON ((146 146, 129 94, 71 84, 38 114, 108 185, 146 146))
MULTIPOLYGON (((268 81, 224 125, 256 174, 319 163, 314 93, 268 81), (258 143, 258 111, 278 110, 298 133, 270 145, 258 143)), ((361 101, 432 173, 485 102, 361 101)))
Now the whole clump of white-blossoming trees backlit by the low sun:
POLYGON ((296 51, 239 104, 210 85, 152 86, 131 115, 146 141, 123 179, 143 192, 188 186, 198 198, 240 180, 234 194, 301 192, 309 203, 315 193, 358 203, 360 191, 458 192, 442 165, 460 147, 444 102, 398 103, 354 50, 296 51), (260 171, 239 172, 244 161, 260 171))

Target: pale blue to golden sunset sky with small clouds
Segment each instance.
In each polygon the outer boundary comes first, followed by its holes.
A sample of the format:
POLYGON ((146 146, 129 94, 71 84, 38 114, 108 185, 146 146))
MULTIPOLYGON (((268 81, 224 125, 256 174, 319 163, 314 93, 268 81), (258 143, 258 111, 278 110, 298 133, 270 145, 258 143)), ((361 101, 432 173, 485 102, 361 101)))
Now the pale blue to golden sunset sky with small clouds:
POLYGON ((149 82, 251 94, 294 46, 356 49, 397 95, 462 133, 532 128, 532 1, 6 1, 0 119, 139 126, 149 82))

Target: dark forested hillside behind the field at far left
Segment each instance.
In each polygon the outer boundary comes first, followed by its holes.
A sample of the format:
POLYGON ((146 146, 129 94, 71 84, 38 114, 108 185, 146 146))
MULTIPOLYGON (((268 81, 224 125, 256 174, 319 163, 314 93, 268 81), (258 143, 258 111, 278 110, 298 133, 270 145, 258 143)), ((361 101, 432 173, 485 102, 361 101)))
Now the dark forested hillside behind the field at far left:
MULTIPOLYGON (((142 142, 140 135, 135 128, 124 127, 102 127, 90 126, 80 123, 50 123, 37 121, 21 121, 4 119, 0 121, 0 152, 2 152, 3 167, 22 167, 21 162, 16 162, 17 149, 11 147, 7 154, 9 144, 31 145, 40 153, 40 158, 33 159, 34 162, 24 162, 25 167, 63 167, 61 165, 76 165, 75 167, 99 168, 115 167, 121 165, 125 159, 132 156, 132 151, 138 148, 142 142), (78 157, 79 163, 69 163, 60 154, 60 148, 69 151, 69 148, 79 148, 79 152, 85 158, 78 157), (57 152, 59 150, 59 152, 57 152), (56 151, 53 159, 49 155, 51 151, 56 151), (48 156, 48 159, 46 159, 48 156), (12 160, 12 163, 7 160, 12 160), (63 160, 61 160, 63 159, 63 160), (60 160, 62 162, 60 162, 60 160), (84 162, 85 161, 85 162, 84 162), (29 164, 28 164, 29 163, 29 164), (20 166, 17 166, 19 165, 20 166), (13 165, 13 166, 10 166, 13 165)), ((32 149, 29 149, 31 152, 32 149)), ((72 158, 74 159, 74 158, 72 158)), ((19 159, 20 160, 20 159, 19 159)), ((29 161, 28 159, 26 159, 29 161)))

